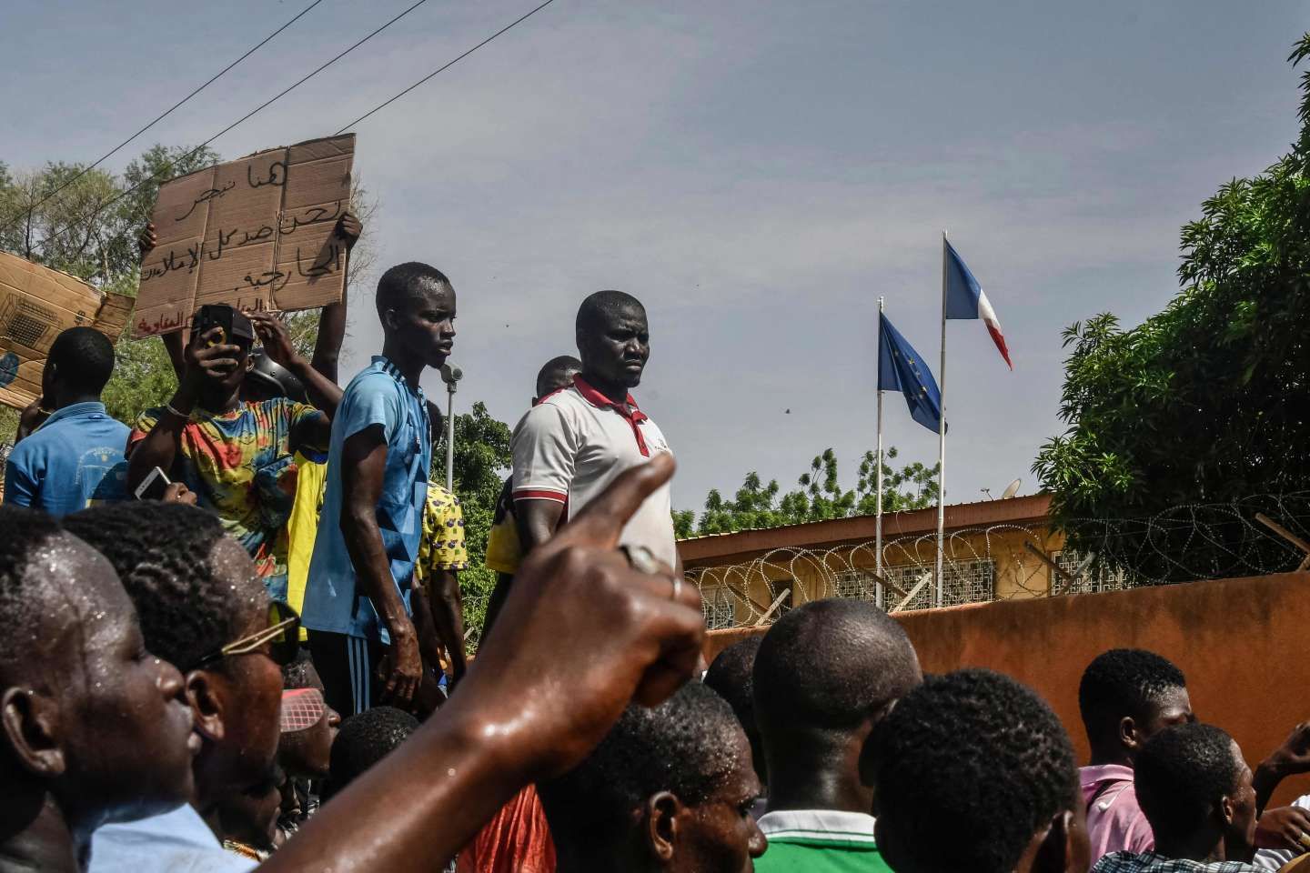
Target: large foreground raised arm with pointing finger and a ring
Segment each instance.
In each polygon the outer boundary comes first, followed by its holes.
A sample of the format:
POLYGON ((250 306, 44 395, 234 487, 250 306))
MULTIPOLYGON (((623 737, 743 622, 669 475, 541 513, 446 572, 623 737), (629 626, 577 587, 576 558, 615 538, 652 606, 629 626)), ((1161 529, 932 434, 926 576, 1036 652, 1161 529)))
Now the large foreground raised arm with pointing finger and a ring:
POLYGON ((667 455, 629 470, 537 548, 451 702, 261 873, 435 869, 520 788, 582 760, 630 700, 655 705, 677 690, 703 640, 700 596, 635 572, 614 548, 672 470, 667 455))

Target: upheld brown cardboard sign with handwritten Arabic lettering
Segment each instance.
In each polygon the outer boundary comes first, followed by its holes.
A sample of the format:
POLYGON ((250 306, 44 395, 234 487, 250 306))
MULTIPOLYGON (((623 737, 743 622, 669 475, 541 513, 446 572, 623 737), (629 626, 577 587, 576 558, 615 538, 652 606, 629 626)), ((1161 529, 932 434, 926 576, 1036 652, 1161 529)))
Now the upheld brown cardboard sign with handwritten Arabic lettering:
POLYGON ((179 330, 204 304, 242 312, 341 301, 355 135, 257 152, 160 187, 132 336, 179 330))

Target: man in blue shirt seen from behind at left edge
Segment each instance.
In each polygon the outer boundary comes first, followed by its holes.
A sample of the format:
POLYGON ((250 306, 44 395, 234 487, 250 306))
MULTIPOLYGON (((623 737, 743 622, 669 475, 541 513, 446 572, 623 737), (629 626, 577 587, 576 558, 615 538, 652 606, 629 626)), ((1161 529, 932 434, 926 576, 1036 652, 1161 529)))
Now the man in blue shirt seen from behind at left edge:
POLYGON ((100 393, 114 372, 114 344, 93 327, 69 327, 50 346, 41 401, 54 410, 5 465, 5 503, 66 516, 127 496, 128 427, 105 412, 100 393))

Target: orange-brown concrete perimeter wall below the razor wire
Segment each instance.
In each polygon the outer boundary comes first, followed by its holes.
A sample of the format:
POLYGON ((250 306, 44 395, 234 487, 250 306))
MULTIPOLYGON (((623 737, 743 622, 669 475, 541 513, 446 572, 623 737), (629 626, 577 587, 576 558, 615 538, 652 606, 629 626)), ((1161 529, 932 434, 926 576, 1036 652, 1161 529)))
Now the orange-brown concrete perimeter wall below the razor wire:
MULTIPOLYGON (((1111 648, 1144 648, 1187 674, 1203 721, 1231 733, 1254 767, 1292 728, 1310 720, 1310 573, 1277 573, 1104 594, 972 603, 903 613, 925 673, 984 666, 1044 696, 1073 738, 1083 668, 1111 648)), ((706 658, 766 628, 711 631, 706 658)), ((1275 802, 1310 792, 1289 779, 1275 802)))

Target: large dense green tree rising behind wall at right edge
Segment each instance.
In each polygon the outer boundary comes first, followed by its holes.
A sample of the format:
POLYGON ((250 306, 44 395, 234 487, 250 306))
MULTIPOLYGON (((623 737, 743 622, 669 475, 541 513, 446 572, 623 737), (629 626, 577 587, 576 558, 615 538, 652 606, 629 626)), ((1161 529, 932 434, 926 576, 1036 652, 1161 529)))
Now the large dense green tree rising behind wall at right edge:
MULTIPOLYGON (((1307 55, 1310 34, 1289 60, 1307 55)), ((1292 151, 1222 185, 1183 226, 1182 292, 1169 306, 1129 330, 1103 313, 1064 332, 1068 429, 1034 471, 1072 546, 1144 579, 1294 563, 1273 543, 1265 555, 1235 548, 1239 524, 1111 539, 1087 520, 1310 488, 1310 72, 1301 90, 1292 151)))

